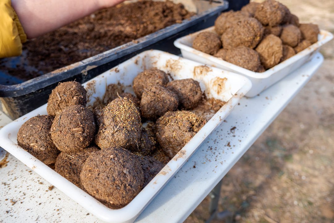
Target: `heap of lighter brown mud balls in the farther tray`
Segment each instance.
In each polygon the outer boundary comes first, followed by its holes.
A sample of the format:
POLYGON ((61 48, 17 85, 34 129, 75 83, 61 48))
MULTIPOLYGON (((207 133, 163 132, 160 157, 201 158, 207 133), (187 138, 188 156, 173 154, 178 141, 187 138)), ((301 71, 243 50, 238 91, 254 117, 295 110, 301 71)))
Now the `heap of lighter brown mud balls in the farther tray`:
POLYGON ((301 24, 275 0, 222 13, 215 32, 201 32, 193 48, 245 69, 264 72, 318 41, 316 24, 301 24))

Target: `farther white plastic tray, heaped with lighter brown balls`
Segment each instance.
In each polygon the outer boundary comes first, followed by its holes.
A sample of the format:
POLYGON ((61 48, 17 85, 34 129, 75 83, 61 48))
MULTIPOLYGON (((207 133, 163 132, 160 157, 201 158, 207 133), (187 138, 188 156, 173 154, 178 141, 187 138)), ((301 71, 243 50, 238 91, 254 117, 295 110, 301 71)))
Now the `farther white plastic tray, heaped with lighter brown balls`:
POLYGON ((288 60, 285 60, 282 63, 274 66, 273 68, 265 72, 259 73, 236 66, 220 58, 213 57, 212 55, 192 48, 192 42, 194 38, 198 33, 203 31, 215 32, 214 26, 178 38, 174 41, 174 45, 181 49, 182 57, 186 59, 221 68, 226 71, 232 71, 249 78, 249 80, 252 81, 253 86, 252 89, 249 90, 246 94, 246 97, 254 97, 258 95, 259 93, 261 93, 271 85, 275 84, 288 74, 291 74, 297 68, 301 67, 307 61, 311 60, 312 56, 319 50, 320 46, 333 38, 333 35, 330 32, 320 30, 318 42, 312 44, 303 51, 297 53, 288 60))

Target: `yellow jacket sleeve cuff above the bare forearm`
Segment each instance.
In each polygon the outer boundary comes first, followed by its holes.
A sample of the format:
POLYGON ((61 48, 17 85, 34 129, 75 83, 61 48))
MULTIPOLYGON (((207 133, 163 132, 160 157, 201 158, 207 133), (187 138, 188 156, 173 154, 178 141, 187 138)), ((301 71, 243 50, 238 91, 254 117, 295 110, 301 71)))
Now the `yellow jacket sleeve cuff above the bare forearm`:
POLYGON ((0 0, 0 58, 18 56, 27 41, 10 0, 0 0))

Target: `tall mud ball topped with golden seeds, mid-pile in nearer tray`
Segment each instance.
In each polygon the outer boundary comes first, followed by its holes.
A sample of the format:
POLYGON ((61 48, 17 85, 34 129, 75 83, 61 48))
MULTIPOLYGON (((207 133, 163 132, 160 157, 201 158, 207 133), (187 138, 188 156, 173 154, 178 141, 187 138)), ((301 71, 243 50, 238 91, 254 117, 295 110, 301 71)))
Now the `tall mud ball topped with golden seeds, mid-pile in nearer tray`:
POLYGON ((138 150, 142 128, 140 113, 128 98, 116 98, 96 112, 99 130, 95 143, 101 148, 138 150))

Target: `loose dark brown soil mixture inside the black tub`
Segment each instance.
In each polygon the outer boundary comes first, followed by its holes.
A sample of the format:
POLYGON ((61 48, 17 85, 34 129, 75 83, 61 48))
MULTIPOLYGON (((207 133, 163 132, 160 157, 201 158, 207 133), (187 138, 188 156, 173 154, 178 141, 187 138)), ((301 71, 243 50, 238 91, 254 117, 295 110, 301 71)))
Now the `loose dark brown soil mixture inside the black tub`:
POLYGON ((23 45, 19 65, 0 60, 0 70, 29 80, 92 57, 184 19, 194 13, 171 1, 140 1, 101 10, 23 45))

